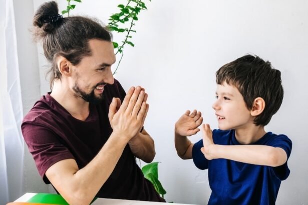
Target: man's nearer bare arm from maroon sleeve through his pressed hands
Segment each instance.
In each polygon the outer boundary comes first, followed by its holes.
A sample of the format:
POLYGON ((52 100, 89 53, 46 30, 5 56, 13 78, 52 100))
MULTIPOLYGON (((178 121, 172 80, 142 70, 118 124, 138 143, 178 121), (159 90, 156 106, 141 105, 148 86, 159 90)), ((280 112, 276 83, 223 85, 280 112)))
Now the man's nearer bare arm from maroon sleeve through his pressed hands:
MULTIPOLYGON (((109 121, 113 132, 99 153, 79 169, 74 159, 65 159, 50 166, 45 175, 69 204, 90 204, 116 166, 128 141, 144 123, 148 104, 140 87, 131 88, 121 105, 113 98, 109 121)), ((81 150, 82 151, 82 150, 81 150)))

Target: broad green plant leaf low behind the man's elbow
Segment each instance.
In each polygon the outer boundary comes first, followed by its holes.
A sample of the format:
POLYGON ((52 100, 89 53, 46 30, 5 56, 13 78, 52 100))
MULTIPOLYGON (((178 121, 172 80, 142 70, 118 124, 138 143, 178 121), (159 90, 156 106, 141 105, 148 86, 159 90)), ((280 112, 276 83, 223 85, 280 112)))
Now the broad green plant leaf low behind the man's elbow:
POLYGON ((156 191, 161 194, 162 198, 164 198, 166 190, 163 188, 160 181, 158 180, 158 162, 152 162, 147 165, 144 165, 141 170, 144 177, 152 182, 156 191))

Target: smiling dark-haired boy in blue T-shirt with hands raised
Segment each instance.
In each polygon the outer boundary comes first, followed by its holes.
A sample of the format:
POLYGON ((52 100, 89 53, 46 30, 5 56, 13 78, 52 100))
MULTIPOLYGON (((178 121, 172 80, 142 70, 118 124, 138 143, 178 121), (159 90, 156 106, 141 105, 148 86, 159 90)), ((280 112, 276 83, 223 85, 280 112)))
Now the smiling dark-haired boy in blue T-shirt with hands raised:
POLYGON ((208 168, 212 190, 208 204, 274 204, 281 180, 290 170, 292 142, 264 126, 279 109, 283 89, 280 71, 258 56, 245 55, 216 72, 213 109, 219 129, 202 124, 201 112, 187 110, 175 123, 175 147, 183 159, 208 168))

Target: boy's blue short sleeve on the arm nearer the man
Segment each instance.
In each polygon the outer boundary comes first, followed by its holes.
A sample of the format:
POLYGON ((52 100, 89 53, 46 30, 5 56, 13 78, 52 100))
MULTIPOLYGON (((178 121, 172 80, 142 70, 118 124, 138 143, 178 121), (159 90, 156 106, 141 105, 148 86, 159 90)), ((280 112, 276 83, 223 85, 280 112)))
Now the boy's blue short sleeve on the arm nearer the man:
POLYGON ((208 160, 205 158, 204 154, 201 151, 201 147, 203 147, 202 139, 196 142, 192 147, 192 159, 195 165, 199 169, 207 169, 208 168, 208 160))

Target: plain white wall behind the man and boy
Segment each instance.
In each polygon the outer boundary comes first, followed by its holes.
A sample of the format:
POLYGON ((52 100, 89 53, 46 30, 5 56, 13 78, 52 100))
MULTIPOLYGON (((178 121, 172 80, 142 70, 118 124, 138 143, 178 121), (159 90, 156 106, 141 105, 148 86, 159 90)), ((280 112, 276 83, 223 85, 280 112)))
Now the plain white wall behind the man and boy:
MULTIPOLYGON (((44 0, 34 0, 36 8, 44 0)), ((124 0, 76 3, 73 14, 96 16, 107 23, 124 0)), ((199 109, 212 128, 217 122, 211 104, 215 71, 246 53, 272 62, 282 73, 284 100, 267 131, 284 133, 293 141, 290 176, 281 183, 277 204, 308 204, 308 156, 304 128, 308 74, 308 1, 306 0, 145 0, 148 10, 136 22, 115 77, 127 90, 142 85, 149 94, 145 122, 155 139, 159 177, 167 201, 204 204, 210 195, 207 171, 181 160, 174 148, 174 122, 186 109, 199 109)), ((60 10, 65 0, 58 0, 60 10)), ((115 35, 116 41, 121 41, 115 35)), ((39 51, 40 53, 40 51, 39 51)), ((46 65, 39 54, 41 93, 49 91, 46 65)), ((22 76, 23 77, 23 76, 22 76)), ((36 82, 30 82, 33 85, 36 82)), ((23 90, 24 91, 24 90, 23 90)), ((27 105, 26 105, 27 106, 27 105)), ((198 133, 192 141, 201 138, 198 133)))

